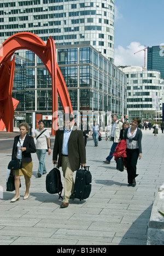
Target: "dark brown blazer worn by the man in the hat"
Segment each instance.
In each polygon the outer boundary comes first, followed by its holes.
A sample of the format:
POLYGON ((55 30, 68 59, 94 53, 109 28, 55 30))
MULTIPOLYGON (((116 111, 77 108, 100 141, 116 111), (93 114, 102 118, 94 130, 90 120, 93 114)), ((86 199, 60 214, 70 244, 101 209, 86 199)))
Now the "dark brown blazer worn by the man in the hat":
MULTIPOLYGON (((57 168, 61 166, 62 144, 63 144, 64 129, 61 127, 56 131, 55 144, 53 151, 53 159, 57 161, 57 168)), ((83 131, 73 126, 73 130, 68 141, 68 158, 72 171, 77 171, 81 164, 86 163, 86 152, 83 131)))

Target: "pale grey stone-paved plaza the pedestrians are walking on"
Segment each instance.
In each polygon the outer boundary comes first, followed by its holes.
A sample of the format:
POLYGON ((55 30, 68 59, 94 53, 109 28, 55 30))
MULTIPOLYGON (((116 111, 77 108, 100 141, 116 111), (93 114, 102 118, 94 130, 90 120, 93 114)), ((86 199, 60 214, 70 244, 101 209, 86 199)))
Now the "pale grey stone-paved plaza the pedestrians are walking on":
MULTIPOLYGON (((112 142, 103 137, 98 147, 93 147, 89 139, 86 152, 92 173, 91 195, 81 202, 71 201, 65 209, 60 208, 57 195, 46 192, 45 175, 37 178, 36 154, 32 155, 30 199, 23 200, 22 177, 21 198, 10 203, 14 193, 5 191, 5 179, 11 153, 0 153, 0 245, 146 245, 151 208, 164 181, 164 134, 159 131, 154 137, 152 132, 143 131, 143 158, 138 161, 135 188, 127 187, 126 170, 117 171, 114 159, 110 165, 103 163, 112 142)), ((47 155, 45 161, 50 171, 52 157, 47 155)))

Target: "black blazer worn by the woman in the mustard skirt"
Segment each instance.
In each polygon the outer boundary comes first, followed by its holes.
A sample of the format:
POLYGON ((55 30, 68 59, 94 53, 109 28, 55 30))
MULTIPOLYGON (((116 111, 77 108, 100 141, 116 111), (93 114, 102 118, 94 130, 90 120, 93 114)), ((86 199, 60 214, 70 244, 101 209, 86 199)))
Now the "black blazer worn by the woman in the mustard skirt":
MULTIPOLYGON (((17 142, 19 142, 19 138, 20 138, 20 135, 14 138, 12 160, 16 159, 17 142)), ((36 153, 37 151, 33 137, 27 134, 22 147, 26 148, 26 151, 22 152, 22 162, 31 162, 32 161, 31 153, 36 153)))

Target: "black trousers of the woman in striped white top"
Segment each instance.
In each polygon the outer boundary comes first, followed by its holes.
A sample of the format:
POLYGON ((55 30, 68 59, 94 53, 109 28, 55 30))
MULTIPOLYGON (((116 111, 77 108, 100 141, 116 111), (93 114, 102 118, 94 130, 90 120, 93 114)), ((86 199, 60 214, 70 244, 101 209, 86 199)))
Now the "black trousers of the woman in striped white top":
POLYGON ((125 158, 126 168, 127 168, 127 181, 129 184, 132 183, 133 179, 138 176, 137 171, 137 161, 139 156, 139 150, 137 149, 126 149, 127 158, 125 158))

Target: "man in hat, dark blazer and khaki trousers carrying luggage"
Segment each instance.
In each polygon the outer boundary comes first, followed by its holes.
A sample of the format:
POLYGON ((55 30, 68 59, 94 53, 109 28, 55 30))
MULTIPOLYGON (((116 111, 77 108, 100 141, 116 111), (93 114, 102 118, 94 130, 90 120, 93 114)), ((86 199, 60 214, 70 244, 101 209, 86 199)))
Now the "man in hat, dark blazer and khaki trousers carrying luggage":
POLYGON ((52 161, 57 164, 57 168, 62 167, 65 177, 65 195, 61 208, 66 208, 69 205, 69 196, 74 191, 73 172, 80 165, 85 166, 86 152, 83 131, 73 126, 73 115, 65 114, 63 121, 64 126, 56 131, 52 161))

